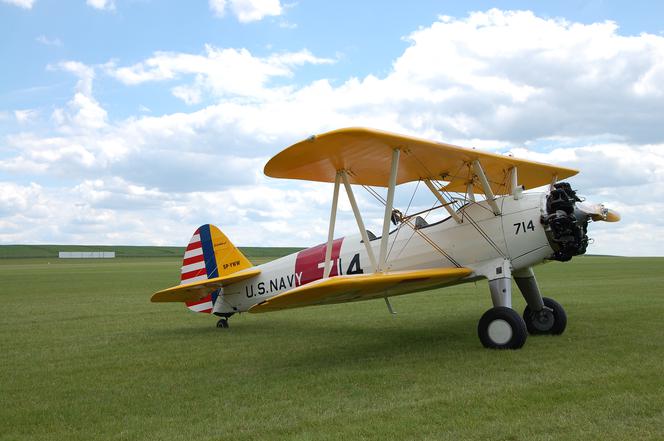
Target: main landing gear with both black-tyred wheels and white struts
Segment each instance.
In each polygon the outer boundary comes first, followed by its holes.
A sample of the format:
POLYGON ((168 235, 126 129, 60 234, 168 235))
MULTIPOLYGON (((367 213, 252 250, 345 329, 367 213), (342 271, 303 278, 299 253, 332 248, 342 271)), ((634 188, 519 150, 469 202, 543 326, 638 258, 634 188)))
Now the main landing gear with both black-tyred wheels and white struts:
POLYGON ((560 335, 565 331, 565 310, 555 300, 541 296, 531 268, 513 273, 527 303, 523 317, 512 309, 512 280, 509 269, 504 266, 496 274, 508 277, 489 280, 494 307, 482 315, 477 325, 477 334, 485 348, 519 349, 525 344, 529 333, 560 335))

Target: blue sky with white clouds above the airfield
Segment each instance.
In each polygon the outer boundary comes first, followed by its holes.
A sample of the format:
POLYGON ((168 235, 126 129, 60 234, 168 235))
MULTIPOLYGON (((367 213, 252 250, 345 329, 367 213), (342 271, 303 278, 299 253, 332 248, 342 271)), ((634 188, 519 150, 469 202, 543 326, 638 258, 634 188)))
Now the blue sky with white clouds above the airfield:
POLYGON ((664 255, 661 2, 0 0, 0 38, 0 244, 184 245, 213 223, 315 245, 332 186, 263 166, 366 126, 579 169, 623 217, 589 253, 664 255))

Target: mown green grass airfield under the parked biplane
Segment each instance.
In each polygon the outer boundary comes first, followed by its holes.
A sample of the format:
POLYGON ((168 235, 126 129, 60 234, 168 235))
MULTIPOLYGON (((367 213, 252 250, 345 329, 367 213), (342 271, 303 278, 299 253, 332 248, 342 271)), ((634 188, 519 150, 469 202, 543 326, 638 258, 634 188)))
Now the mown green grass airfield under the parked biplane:
POLYGON ((661 440, 663 265, 541 266, 567 331, 491 351, 486 282, 223 330, 149 303, 179 258, 5 259, 0 440, 661 440))

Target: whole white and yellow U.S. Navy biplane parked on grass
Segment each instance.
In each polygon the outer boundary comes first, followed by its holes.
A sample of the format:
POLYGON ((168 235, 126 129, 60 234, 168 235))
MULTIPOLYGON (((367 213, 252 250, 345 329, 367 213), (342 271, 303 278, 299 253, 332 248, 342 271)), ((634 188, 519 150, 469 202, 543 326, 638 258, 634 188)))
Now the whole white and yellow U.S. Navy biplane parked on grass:
POLYGON ((267 176, 334 184, 325 243, 253 266, 215 226, 191 238, 178 286, 153 302, 185 302, 228 327, 235 313, 384 298, 487 279, 493 308, 478 324, 485 347, 516 349, 530 334, 561 334, 564 309, 540 293, 533 266, 583 254, 590 221, 620 216, 583 203, 569 184, 576 170, 481 152, 410 136, 348 128, 312 136, 274 156, 267 176), (422 183, 434 206, 395 209, 396 187, 422 183), (358 233, 334 238, 343 186, 358 233), (380 236, 365 228, 353 186, 384 204, 380 236), (386 188, 382 197, 374 187, 386 188), (543 187, 542 192, 524 192, 543 187), (447 216, 427 222, 445 210, 447 216), (394 228, 390 231, 391 225, 394 228), (512 309, 512 279, 527 302, 512 309))

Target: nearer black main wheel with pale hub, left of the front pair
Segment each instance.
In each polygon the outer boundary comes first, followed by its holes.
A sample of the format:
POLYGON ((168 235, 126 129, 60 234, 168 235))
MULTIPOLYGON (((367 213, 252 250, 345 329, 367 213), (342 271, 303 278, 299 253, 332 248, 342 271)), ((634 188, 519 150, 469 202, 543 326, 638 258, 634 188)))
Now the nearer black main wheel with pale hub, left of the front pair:
POLYGON ((505 306, 485 312, 477 324, 477 334, 482 345, 491 349, 519 349, 528 336, 521 316, 505 306))

